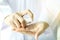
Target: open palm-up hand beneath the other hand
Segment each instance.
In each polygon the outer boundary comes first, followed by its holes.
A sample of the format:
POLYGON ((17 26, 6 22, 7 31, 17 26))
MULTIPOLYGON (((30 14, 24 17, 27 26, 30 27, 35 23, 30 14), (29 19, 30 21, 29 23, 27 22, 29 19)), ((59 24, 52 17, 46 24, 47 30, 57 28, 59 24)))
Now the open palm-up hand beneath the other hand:
POLYGON ((33 37, 35 37, 35 40, 38 40, 39 35, 41 35, 48 26, 49 25, 47 22, 37 22, 27 25, 26 29, 21 28, 17 29, 16 31, 23 34, 32 35, 33 37))

